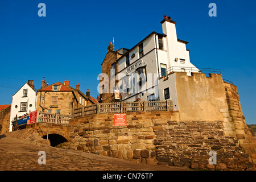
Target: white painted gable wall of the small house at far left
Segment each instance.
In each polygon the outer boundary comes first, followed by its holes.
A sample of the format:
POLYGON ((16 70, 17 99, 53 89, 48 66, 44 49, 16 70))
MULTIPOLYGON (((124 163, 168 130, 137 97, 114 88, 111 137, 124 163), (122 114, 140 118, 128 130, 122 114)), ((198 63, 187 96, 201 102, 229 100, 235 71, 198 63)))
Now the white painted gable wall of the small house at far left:
POLYGON ((18 90, 18 92, 16 92, 13 95, 13 101, 11 103, 9 131, 12 131, 11 121, 13 121, 16 115, 19 117, 35 110, 36 110, 36 92, 30 87, 30 85, 26 83, 22 86, 22 88, 18 90), (24 89, 27 89, 27 97, 23 97, 24 89), (20 111, 21 102, 27 102, 27 111, 20 111), (32 105, 31 107, 30 107, 30 104, 32 105), (15 106, 17 106, 17 108, 15 108, 15 106))

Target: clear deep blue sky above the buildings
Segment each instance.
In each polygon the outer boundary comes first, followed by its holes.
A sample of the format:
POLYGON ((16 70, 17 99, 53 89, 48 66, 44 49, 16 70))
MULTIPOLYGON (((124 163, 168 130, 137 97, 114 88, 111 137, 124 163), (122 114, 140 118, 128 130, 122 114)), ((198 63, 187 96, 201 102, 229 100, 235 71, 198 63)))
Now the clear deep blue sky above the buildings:
POLYGON ((191 63, 218 68, 238 87, 247 124, 256 124, 256 1, 2 1, 0 4, 0 105, 27 80, 35 88, 65 78, 96 98, 97 75, 109 42, 131 48, 150 32, 162 33, 164 15, 189 42, 191 63), (46 4, 46 17, 38 4, 46 4), (217 16, 210 17, 209 3, 217 16))

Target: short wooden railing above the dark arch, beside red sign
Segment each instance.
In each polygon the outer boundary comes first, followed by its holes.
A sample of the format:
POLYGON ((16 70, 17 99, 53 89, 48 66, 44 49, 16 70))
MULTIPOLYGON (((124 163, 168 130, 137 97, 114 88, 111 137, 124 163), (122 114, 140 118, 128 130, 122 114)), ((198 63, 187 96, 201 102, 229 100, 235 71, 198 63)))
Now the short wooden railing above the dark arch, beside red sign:
POLYGON ((71 119, 71 116, 69 115, 42 113, 42 112, 38 113, 38 122, 42 122, 42 123, 69 125, 69 119, 71 119))

